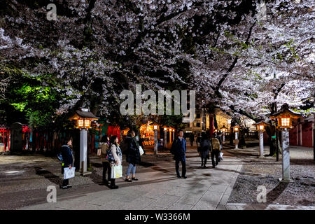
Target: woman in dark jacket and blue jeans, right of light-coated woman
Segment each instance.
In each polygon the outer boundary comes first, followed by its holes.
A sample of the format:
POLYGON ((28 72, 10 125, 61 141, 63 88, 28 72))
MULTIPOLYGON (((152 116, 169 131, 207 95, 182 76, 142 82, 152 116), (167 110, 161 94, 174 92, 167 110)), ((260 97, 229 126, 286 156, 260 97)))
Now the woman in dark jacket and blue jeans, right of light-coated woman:
POLYGON ((138 181, 138 179, 134 176, 136 174, 136 166, 141 162, 141 156, 139 151, 139 144, 133 130, 129 130, 127 133, 127 138, 125 139, 125 147, 126 147, 126 161, 129 163, 129 167, 127 168, 127 174, 125 181, 132 182, 138 181), (130 179, 130 172, 132 172, 132 179, 130 179))

